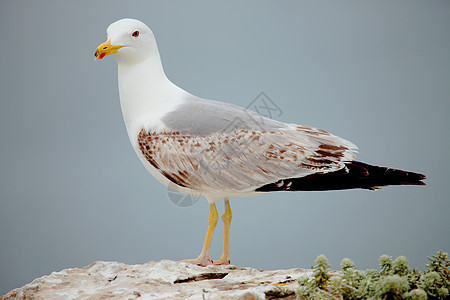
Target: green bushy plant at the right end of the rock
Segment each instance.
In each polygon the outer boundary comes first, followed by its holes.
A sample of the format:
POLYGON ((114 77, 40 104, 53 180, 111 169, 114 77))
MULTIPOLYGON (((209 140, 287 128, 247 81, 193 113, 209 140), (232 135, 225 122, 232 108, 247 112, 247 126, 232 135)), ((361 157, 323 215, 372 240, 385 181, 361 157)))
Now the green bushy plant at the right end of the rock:
POLYGON ((349 258, 341 261, 342 271, 330 273, 325 255, 315 260, 312 276, 298 279, 300 299, 449 299, 450 261, 439 251, 428 258, 428 270, 410 269, 404 256, 394 261, 388 255, 379 259, 379 270, 359 271, 349 258))

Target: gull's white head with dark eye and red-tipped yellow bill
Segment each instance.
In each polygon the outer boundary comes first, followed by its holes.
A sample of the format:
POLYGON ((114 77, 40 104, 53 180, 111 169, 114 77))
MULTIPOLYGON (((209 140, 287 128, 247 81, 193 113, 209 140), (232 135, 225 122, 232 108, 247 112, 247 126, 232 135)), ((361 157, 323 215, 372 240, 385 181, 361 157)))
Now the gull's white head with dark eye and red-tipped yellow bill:
POLYGON ((109 25, 107 41, 97 47, 94 58, 114 54, 117 61, 139 62, 157 52, 155 37, 144 23, 122 19, 109 25))

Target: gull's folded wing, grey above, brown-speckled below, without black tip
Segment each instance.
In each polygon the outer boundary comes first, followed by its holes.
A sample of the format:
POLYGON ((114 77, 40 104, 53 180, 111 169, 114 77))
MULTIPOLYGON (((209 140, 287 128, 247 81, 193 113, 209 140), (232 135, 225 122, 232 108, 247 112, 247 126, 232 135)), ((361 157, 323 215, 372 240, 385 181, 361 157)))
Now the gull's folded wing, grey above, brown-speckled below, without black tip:
POLYGON ((251 192, 281 179, 336 171, 354 159, 356 148, 320 129, 214 101, 181 106, 163 121, 166 132, 141 130, 140 150, 172 182, 209 193, 251 192))

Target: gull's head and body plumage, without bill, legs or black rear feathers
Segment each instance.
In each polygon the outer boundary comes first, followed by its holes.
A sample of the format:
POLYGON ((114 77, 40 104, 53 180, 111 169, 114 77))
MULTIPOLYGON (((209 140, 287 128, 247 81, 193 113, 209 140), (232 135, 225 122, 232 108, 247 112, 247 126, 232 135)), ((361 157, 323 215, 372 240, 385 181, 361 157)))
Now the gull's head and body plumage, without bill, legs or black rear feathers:
POLYGON ((177 87, 166 77, 155 38, 145 24, 120 20, 107 34, 111 45, 122 46, 114 55, 131 144, 164 185, 177 184, 184 193, 194 189, 213 202, 248 196, 280 179, 336 171, 354 159, 356 146, 328 132, 200 99, 177 87), (138 37, 132 36, 135 31, 138 37), (229 128, 236 120, 238 124, 229 128), (142 145, 144 137, 156 149, 151 155, 142 145), (338 148, 321 154, 324 145, 338 148))

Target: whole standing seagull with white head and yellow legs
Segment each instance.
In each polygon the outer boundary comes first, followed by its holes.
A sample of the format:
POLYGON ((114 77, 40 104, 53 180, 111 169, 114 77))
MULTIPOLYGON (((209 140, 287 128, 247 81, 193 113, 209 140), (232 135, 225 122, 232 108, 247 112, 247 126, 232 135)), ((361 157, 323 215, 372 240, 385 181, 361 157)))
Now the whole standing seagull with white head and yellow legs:
POLYGON ((141 21, 122 19, 108 27, 94 58, 110 54, 118 63, 123 119, 140 161, 160 183, 209 203, 203 248, 197 258, 185 260, 189 263, 230 264, 230 198, 424 185, 425 175, 356 161, 357 147, 327 131, 184 91, 166 77, 155 36, 141 21), (213 261, 215 203, 222 199, 223 253, 213 261))

